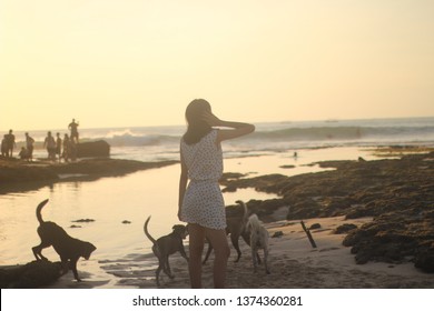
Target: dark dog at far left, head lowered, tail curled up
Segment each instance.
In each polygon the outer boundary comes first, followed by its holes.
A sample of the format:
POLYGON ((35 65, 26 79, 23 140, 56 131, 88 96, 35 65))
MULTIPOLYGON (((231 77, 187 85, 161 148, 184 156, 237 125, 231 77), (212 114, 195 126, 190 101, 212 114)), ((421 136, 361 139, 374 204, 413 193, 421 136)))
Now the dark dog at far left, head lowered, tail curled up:
POLYGON ((48 199, 40 202, 37 208, 36 214, 39 221, 38 234, 41 238, 41 243, 32 248, 33 254, 37 260, 47 260, 47 258, 42 255, 42 250, 52 245, 56 252, 60 255, 63 273, 68 272, 69 261, 69 268, 72 270, 73 277, 77 281, 81 281, 77 273, 77 261, 80 257, 88 260, 90 254, 97 248, 89 242, 71 238, 60 225, 56 224, 55 222, 43 221, 41 210, 47 204, 47 202, 48 199))

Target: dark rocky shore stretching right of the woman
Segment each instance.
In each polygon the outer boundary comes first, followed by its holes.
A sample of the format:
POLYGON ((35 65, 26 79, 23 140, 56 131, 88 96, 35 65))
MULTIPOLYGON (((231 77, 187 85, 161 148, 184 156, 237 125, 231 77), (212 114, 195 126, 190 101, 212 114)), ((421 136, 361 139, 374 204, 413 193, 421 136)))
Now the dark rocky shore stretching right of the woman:
POLYGON ((288 207, 287 219, 373 217, 352 228, 344 244, 357 263, 413 261, 434 272, 434 152, 394 160, 320 162, 333 171, 225 180, 226 189, 255 188, 282 198, 251 201, 267 213, 288 207))

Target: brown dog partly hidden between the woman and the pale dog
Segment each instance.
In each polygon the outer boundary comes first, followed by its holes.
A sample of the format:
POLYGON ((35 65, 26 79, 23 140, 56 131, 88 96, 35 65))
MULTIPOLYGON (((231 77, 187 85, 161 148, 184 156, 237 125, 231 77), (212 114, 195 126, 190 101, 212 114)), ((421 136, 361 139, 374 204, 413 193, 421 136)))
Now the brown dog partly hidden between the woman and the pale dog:
MULTIPOLYGON (((239 259, 241 258, 241 251, 239 250, 239 237, 243 238, 243 240, 247 243, 247 245, 250 244, 250 234, 246 232, 246 223, 248 220, 248 211, 247 211, 247 205, 243 201, 237 201, 237 203, 243 208, 243 214, 241 215, 227 215, 226 217, 226 234, 230 234, 230 241, 233 242, 233 245, 235 250, 237 251, 237 259, 235 262, 238 262, 239 259)), ((209 254, 213 251, 213 245, 211 243, 208 243, 208 251, 205 255, 205 259, 203 261, 203 264, 205 264, 209 258, 209 254)))

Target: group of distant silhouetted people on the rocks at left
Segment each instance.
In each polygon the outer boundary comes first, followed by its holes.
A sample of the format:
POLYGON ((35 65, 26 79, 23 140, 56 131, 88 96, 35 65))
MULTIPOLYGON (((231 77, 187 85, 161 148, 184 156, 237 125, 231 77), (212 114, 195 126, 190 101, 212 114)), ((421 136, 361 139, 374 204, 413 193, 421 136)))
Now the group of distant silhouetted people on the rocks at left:
MULTIPOLYGON (((51 131, 47 133, 47 137, 43 141, 43 148, 47 149, 48 159, 51 161, 61 160, 65 161, 77 159, 77 143, 79 142, 78 134, 78 123, 75 119, 69 123, 68 129, 70 130, 70 136, 65 134, 63 139, 60 138, 60 133, 55 137, 51 134, 51 131)), ((34 139, 26 132, 26 147, 21 147, 18 157, 22 160, 32 161, 33 160, 33 144, 34 139)), ((13 148, 17 148, 16 137, 12 130, 9 130, 8 134, 3 136, 1 141, 1 156, 3 158, 13 158, 13 148)))

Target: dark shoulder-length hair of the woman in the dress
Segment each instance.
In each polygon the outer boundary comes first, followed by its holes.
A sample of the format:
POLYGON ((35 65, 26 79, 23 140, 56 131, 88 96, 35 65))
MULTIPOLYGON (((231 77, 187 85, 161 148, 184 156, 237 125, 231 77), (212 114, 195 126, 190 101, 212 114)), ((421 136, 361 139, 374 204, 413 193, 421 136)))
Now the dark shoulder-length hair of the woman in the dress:
POLYGON ((211 127, 203 120, 205 111, 211 111, 211 106, 205 99, 195 99, 186 109, 188 128, 184 134, 187 144, 199 142, 199 140, 211 131, 211 127))

